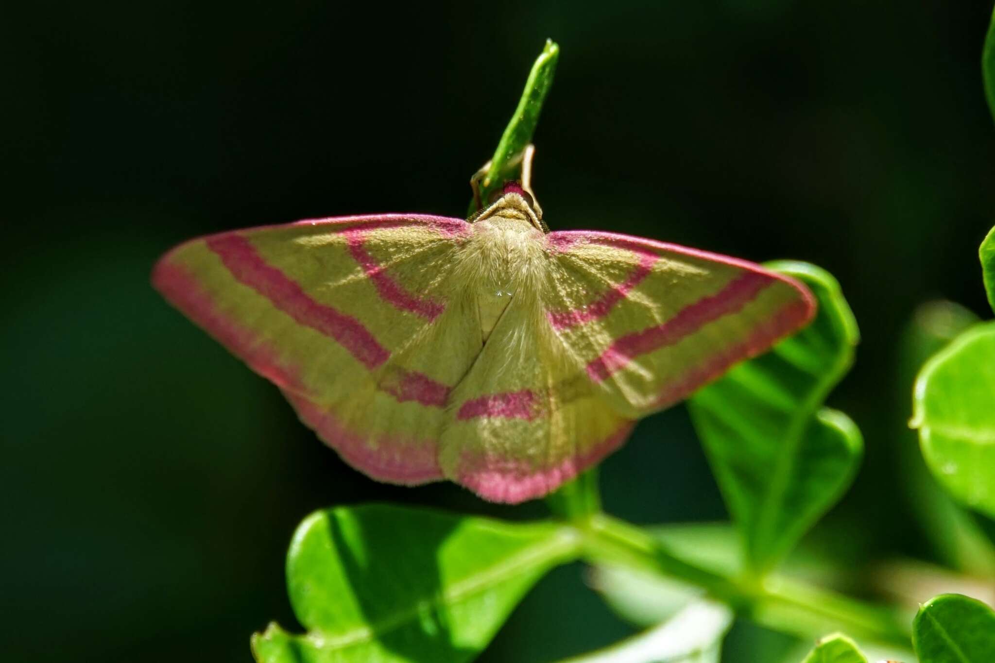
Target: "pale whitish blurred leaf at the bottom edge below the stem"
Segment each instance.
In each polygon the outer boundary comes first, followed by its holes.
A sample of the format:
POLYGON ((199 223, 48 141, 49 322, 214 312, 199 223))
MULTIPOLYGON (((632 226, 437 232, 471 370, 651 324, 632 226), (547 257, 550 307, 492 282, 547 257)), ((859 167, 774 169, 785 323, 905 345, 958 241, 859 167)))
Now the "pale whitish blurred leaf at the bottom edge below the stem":
POLYGON ((698 601, 669 621, 606 649, 562 663, 718 663, 732 610, 698 601))

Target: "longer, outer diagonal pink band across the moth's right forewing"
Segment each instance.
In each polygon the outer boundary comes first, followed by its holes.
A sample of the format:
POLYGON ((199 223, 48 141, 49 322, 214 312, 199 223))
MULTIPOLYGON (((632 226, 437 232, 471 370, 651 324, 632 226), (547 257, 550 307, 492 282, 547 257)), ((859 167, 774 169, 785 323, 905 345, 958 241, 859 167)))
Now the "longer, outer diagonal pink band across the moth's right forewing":
POLYGON ((673 345, 708 322, 735 313, 763 288, 776 282, 763 272, 743 272, 717 293, 686 306, 664 324, 616 339, 600 357, 587 365, 587 375, 594 382, 603 382, 625 368, 633 358, 673 345))

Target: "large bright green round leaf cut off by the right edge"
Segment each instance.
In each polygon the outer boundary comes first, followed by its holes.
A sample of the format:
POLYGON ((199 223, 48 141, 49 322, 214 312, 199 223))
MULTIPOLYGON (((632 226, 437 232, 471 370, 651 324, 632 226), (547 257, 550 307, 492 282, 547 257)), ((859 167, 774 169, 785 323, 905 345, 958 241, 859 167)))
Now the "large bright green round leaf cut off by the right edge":
POLYGON ((912 408, 933 476, 960 502, 995 516, 995 323, 964 332, 922 367, 912 408))

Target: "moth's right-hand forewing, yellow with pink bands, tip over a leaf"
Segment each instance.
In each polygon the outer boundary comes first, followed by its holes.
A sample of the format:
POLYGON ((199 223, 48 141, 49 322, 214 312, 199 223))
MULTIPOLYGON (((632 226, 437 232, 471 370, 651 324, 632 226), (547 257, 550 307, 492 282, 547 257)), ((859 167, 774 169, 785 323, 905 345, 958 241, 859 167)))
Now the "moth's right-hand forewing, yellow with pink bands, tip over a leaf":
POLYGON ((624 416, 682 401, 815 313, 808 290, 752 262, 612 233, 546 243, 549 324, 624 416))

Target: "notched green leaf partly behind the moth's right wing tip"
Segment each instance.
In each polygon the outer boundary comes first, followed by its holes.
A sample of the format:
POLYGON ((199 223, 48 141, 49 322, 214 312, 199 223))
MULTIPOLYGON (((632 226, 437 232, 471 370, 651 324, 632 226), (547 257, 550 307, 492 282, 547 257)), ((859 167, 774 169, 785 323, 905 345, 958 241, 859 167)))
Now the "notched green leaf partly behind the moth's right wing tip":
POLYGON ((808 327, 692 397, 689 408, 746 561, 768 571, 843 494, 863 453, 857 425, 822 408, 854 360, 857 322, 833 276, 804 262, 768 266, 819 301, 808 327))

